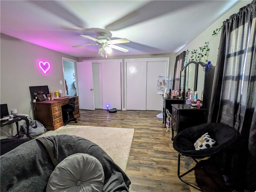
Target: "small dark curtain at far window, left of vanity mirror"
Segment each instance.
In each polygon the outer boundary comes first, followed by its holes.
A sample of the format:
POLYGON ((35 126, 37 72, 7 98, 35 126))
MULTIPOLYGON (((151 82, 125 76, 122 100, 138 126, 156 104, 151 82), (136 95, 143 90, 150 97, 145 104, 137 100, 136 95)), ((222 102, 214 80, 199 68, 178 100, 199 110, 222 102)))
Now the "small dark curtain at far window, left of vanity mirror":
POLYGON ((176 56, 172 90, 178 90, 180 88, 180 70, 184 66, 185 57, 186 51, 176 56))

